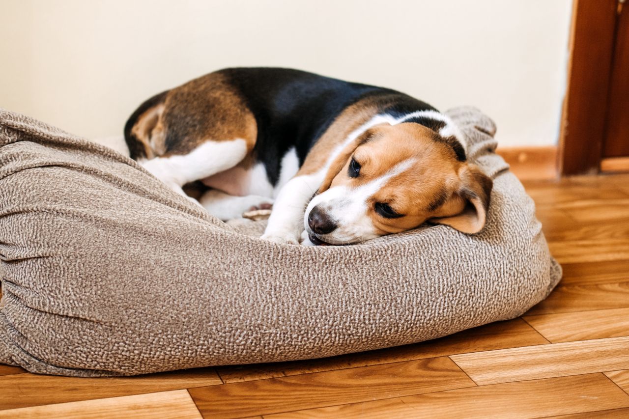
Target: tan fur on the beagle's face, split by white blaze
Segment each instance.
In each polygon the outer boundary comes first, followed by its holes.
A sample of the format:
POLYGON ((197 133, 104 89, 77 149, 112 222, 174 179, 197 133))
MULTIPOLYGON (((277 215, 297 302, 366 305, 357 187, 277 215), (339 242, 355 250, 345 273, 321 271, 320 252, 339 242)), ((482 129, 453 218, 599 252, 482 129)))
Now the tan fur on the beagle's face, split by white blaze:
MULTIPOLYGON (((449 198, 457 186, 457 160, 452 150, 435 142, 435 132, 415 123, 382 125, 361 136, 358 148, 330 187, 355 188, 385 176, 392 167, 409 162, 408 169, 392 176, 367 199, 367 214, 381 234, 414 228, 437 216, 432 208, 440 196, 449 198), (360 164, 358 177, 350 177, 352 159, 360 164), (387 204, 396 217, 381 215, 376 203, 387 204)), ((444 202, 445 203, 445 199, 444 202)))

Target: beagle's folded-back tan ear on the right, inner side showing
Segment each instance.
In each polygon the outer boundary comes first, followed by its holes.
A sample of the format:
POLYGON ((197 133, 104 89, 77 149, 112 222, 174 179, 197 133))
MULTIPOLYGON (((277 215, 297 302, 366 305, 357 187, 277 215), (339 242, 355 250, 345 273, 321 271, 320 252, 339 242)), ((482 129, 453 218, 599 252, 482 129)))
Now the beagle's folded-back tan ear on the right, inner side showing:
POLYGON ((449 225, 467 234, 478 233, 485 226, 491 188, 494 182, 475 165, 462 165, 459 169, 460 186, 457 195, 465 202, 456 215, 431 218, 431 223, 449 225))

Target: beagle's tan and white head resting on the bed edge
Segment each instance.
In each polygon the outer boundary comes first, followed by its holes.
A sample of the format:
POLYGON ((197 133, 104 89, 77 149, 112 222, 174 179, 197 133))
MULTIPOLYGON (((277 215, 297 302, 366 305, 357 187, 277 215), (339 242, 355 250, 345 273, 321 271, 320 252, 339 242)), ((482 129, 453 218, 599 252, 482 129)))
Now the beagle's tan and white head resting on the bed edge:
POLYGON ((455 137, 417 123, 376 125, 331 162, 308 204, 304 227, 321 244, 362 242, 425 221, 477 233, 493 182, 455 137))

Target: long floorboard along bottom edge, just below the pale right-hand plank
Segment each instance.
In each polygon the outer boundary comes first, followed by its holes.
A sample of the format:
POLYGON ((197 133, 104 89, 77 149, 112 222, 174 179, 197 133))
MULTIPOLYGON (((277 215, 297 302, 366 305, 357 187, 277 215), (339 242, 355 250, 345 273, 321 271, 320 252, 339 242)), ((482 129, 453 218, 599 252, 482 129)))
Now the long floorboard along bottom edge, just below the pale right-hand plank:
POLYGON ((264 417, 533 418, 628 406, 629 396, 603 374, 588 374, 456 389, 264 417))

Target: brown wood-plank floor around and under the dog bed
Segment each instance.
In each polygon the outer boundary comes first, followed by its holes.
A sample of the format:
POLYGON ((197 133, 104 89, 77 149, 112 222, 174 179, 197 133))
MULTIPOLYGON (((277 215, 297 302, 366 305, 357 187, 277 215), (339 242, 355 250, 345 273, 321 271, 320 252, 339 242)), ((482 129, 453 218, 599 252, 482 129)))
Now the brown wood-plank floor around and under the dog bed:
POLYGON ((627 418, 629 175, 526 189, 564 279, 521 318, 329 359, 142 377, 0 366, 0 418, 627 418))

